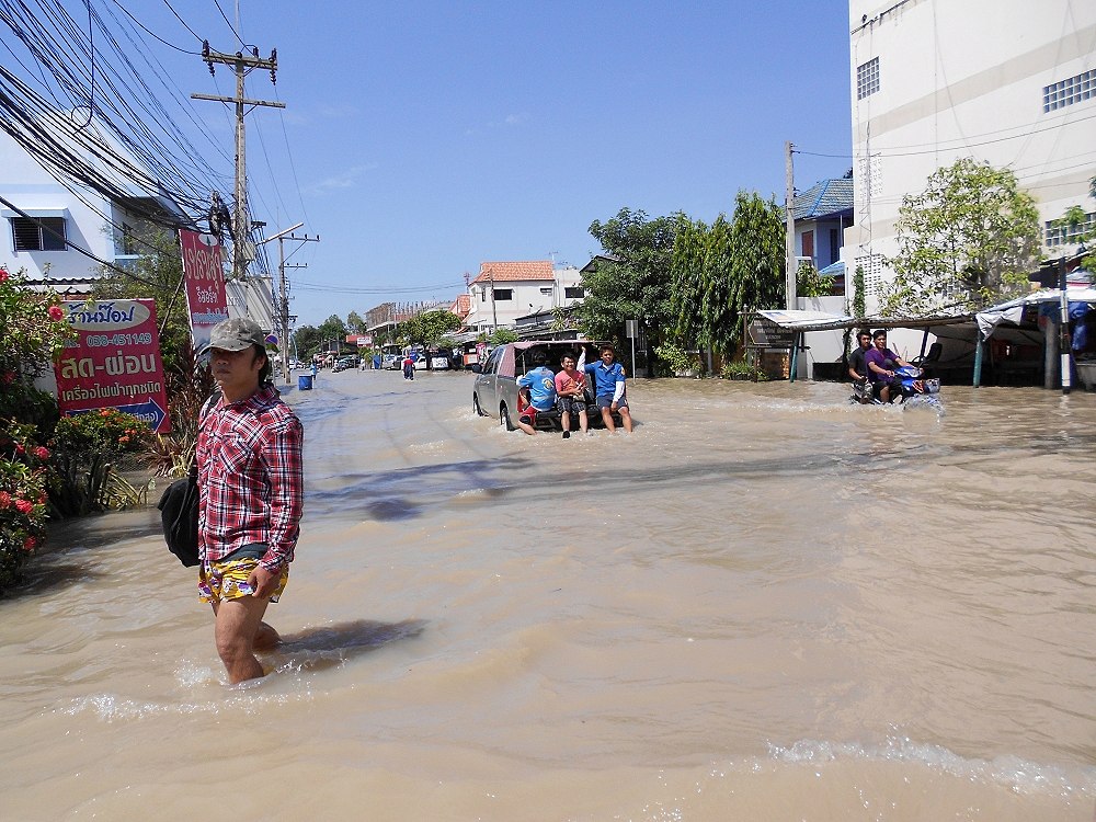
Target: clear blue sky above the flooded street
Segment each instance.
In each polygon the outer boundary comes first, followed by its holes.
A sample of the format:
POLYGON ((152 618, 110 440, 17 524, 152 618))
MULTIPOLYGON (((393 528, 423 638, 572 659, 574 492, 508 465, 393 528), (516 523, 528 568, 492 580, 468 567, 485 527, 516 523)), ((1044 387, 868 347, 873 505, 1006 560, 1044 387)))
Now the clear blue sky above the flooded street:
MULTIPOLYGON (((193 33, 162 1, 93 0, 180 47, 196 33, 236 50, 215 0, 169 2, 193 33)), ((849 153, 844 2, 240 0, 239 13, 243 39, 278 53, 276 88, 256 71, 249 96, 287 106, 248 115, 253 212, 267 235, 304 220, 321 238, 292 258, 308 263, 290 272, 298 323, 450 299, 484 260, 581 266, 598 251, 590 224, 623 207, 710 221, 740 189, 783 202, 788 139, 849 153)), ((179 95, 232 93, 227 67, 213 78, 146 47, 179 95)), ((227 106, 191 106, 229 176, 227 106)), ((798 187, 849 165, 797 155, 798 187)))

